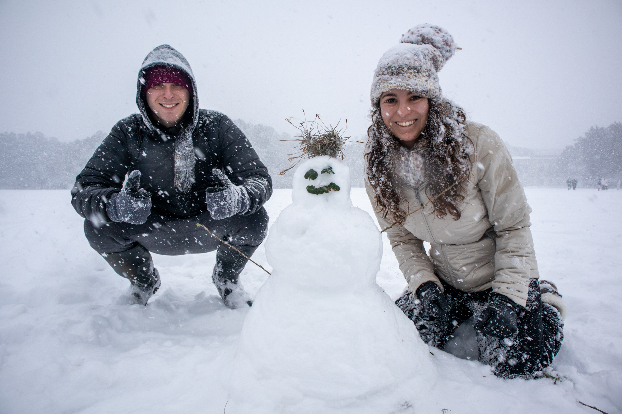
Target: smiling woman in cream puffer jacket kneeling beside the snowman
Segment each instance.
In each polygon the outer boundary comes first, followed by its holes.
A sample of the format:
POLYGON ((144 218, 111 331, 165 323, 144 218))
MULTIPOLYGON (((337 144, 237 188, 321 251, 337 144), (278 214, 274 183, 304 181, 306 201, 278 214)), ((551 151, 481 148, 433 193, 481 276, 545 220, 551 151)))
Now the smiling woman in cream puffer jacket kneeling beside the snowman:
POLYGON ((446 30, 419 25, 380 59, 366 190, 408 282, 396 304, 423 341, 443 349, 471 320, 495 375, 534 378, 559 351, 564 302, 539 280, 508 149, 442 94, 437 71, 456 49, 446 30))

